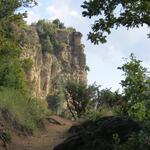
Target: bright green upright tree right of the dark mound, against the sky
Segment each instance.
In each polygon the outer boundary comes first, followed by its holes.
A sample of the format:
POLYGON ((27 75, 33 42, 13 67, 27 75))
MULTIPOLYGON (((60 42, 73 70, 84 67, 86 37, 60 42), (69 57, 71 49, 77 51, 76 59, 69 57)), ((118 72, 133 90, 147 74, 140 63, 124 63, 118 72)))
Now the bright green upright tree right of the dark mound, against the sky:
MULTIPOLYGON (((150 82, 147 75, 147 69, 141 65, 141 61, 131 54, 122 67, 118 69, 124 72, 125 79, 121 81, 123 87, 122 112, 124 114, 139 117, 146 117, 150 97, 147 95, 150 91, 150 82)), ((148 115, 148 114, 147 114, 148 115)))

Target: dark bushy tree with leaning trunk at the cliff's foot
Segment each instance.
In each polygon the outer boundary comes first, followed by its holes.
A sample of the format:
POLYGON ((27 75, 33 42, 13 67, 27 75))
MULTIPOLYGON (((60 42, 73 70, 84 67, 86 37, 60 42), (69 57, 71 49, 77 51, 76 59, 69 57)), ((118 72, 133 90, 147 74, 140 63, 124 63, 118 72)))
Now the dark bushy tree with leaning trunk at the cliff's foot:
POLYGON ((69 81, 67 83, 65 88, 66 101, 74 119, 76 116, 80 118, 87 109, 95 107, 97 88, 95 85, 87 86, 82 82, 69 81))

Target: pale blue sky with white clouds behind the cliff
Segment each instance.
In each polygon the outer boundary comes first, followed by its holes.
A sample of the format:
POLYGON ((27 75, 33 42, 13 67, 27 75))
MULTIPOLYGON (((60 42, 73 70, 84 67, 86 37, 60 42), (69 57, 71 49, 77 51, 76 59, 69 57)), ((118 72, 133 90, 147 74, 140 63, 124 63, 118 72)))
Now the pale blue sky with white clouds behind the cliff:
POLYGON ((81 4, 84 0, 38 0, 38 6, 28 9, 28 24, 39 19, 60 19, 67 27, 74 27, 83 34, 82 43, 85 45, 88 72, 88 83, 96 82, 102 88, 121 89, 122 72, 117 69, 134 53, 143 61, 143 66, 150 67, 150 39, 147 34, 150 29, 146 26, 127 30, 121 27, 113 30, 106 44, 94 45, 87 40, 91 31, 93 19, 82 17, 81 4))

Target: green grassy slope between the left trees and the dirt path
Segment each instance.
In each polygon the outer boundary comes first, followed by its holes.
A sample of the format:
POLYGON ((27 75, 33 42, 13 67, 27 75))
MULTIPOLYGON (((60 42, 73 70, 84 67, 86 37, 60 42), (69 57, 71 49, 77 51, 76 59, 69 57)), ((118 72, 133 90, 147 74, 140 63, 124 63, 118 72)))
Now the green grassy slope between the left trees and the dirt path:
POLYGON ((0 88, 0 108, 10 112, 17 122, 33 132, 38 121, 50 114, 46 101, 27 96, 15 89, 0 88))

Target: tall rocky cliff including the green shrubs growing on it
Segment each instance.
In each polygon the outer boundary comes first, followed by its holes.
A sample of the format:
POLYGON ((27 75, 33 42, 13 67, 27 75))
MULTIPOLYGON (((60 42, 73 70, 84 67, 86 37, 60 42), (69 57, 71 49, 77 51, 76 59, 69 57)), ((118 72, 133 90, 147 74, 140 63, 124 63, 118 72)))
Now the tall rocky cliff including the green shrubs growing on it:
POLYGON ((36 97, 45 99, 63 88, 67 80, 86 83, 87 67, 80 32, 60 29, 50 22, 43 23, 46 28, 41 24, 19 32, 23 49, 21 59, 31 91, 36 97))

